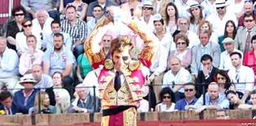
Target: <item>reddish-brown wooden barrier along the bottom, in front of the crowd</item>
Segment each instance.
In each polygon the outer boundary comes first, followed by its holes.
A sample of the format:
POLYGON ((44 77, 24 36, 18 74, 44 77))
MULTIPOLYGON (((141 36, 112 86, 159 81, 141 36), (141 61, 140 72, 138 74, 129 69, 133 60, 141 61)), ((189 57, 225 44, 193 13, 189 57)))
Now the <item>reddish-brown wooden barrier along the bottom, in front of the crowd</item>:
MULTIPOLYGON (((250 120, 252 118, 252 111, 250 110, 228 110, 228 116, 233 120, 218 120, 218 124, 242 124, 254 123, 256 120, 250 120)), ((171 112, 171 113, 138 113, 137 120, 138 125, 156 126, 160 125, 204 125, 216 124, 216 111, 205 111, 201 114, 195 113, 194 111, 186 112, 171 112), (202 120, 200 117, 202 115, 202 120), (207 121, 206 121, 207 120, 207 121)), ((13 116, 0 116, 0 125, 96 125, 100 126, 101 113, 72 113, 72 114, 36 114, 32 115, 13 115, 13 116)), ((209 126, 209 125, 207 125, 209 126)))

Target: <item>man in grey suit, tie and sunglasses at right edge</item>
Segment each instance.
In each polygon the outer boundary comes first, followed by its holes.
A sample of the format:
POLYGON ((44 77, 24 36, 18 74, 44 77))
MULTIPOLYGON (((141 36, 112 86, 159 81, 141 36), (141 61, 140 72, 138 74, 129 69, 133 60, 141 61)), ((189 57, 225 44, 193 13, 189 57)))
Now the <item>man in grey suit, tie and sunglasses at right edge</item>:
POLYGON ((235 48, 243 54, 252 49, 251 37, 256 35, 255 17, 253 13, 244 14, 244 27, 240 27, 235 35, 235 48))

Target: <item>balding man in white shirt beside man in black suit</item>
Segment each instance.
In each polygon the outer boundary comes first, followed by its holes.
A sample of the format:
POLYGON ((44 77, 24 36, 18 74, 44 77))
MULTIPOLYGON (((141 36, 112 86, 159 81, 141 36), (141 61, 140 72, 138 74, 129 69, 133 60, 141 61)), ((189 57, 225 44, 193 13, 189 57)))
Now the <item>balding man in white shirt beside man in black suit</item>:
POLYGON ((164 74, 163 87, 170 87, 175 93, 175 100, 184 98, 184 84, 192 82, 190 72, 181 66, 178 57, 171 57, 169 62, 171 70, 164 74))

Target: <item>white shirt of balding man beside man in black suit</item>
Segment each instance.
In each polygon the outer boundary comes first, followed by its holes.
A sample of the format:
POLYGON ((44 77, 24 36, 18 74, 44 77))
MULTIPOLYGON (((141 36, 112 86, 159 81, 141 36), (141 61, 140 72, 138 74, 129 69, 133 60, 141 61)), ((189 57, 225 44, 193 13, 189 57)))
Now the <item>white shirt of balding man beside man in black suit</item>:
MULTIPOLYGON (((174 87, 175 84, 189 83, 192 82, 192 76, 190 72, 183 67, 179 69, 179 72, 175 75, 172 74, 171 70, 164 74, 163 87, 174 87)), ((184 92, 184 89, 179 89, 179 92, 184 92)))

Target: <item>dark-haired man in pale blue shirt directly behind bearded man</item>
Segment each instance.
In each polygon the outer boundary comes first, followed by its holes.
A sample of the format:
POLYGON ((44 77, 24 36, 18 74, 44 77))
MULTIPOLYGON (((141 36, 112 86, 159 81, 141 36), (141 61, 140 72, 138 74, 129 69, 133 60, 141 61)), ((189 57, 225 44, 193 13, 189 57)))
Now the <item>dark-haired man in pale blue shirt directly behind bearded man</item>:
POLYGON ((71 50, 72 42, 70 34, 61 31, 61 23, 58 20, 53 20, 51 22, 51 31, 52 32, 49 32, 46 36, 43 37, 43 48, 46 48, 47 50, 51 50, 52 48, 54 48, 54 35, 56 33, 61 33, 64 37, 63 44, 65 45, 67 50, 71 50))

